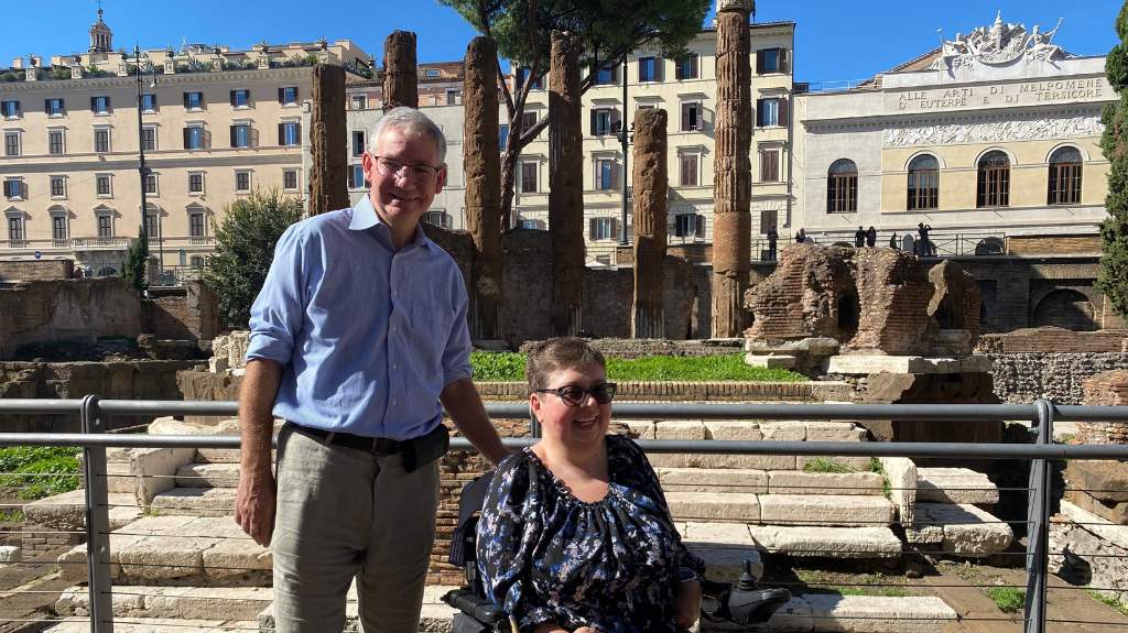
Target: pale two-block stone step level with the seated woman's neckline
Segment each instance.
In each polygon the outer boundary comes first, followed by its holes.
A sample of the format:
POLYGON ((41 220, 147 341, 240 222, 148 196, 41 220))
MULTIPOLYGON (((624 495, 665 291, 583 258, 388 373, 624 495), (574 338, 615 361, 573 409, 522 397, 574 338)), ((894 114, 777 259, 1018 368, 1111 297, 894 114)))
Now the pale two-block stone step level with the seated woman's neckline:
POLYGON ((884 497, 670 492, 667 501, 677 520, 814 526, 888 526, 895 521, 893 505, 884 497))

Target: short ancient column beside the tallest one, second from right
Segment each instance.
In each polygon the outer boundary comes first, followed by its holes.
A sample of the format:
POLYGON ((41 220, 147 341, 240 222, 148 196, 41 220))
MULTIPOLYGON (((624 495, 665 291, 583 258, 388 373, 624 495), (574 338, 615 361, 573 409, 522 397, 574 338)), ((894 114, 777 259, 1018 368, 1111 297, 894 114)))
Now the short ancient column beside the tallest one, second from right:
POLYGON ((634 304, 631 336, 666 338, 662 312, 662 261, 666 259, 667 114, 662 109, 635 110, 634 170, 634 304))

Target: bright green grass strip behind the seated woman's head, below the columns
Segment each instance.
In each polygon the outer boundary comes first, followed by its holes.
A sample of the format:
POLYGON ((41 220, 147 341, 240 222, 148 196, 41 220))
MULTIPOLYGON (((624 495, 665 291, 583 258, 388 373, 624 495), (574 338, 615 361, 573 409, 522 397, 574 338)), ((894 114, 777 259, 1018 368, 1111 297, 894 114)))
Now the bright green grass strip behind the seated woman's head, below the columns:
MULTIPOLYGON (((525 380, 525 355, 514 353, 473 351, 470 365, 474 378, 484 382, 525 380)), ((741 354, 716 356, 643 356, 642 358, 607 359, 607 376, 611 381, 685 381, 685 382, 801 382, 807 376, 787 369, 766 369, 744 364, 741 354)))

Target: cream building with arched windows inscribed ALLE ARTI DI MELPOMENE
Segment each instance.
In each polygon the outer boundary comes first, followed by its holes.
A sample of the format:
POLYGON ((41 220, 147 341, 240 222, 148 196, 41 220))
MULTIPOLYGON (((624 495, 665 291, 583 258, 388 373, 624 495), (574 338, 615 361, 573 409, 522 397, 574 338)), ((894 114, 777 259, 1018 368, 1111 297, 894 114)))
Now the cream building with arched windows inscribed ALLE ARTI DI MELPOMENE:
POLYGON ((932 226, 940 255, 1099 251, 1109 163, 1104 57, 1058 30, 994 24, 958 34, 849 90, 795 99, 795 189, 816 241, 880 241, 932 226))

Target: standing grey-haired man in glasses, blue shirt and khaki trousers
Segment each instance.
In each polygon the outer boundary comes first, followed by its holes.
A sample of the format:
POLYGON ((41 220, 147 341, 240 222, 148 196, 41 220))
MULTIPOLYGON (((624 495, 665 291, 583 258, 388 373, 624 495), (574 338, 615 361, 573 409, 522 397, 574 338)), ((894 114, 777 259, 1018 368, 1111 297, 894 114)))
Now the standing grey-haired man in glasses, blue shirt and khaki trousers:
POLYGON ((353 578, 367 631, 415 633, 442 407, 487 457, 505 454, 470 382, 461 274, 418 225, 446 184, 442 132, 396 108, 369 137, 369 195, 288 229, 252 307, 235 518, 273 543, 281 633, 341 631, 353 578))

